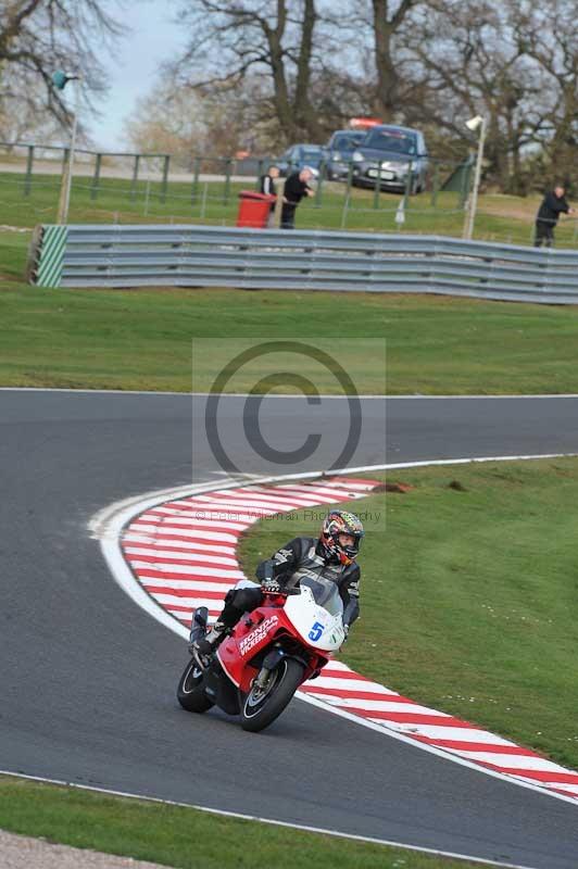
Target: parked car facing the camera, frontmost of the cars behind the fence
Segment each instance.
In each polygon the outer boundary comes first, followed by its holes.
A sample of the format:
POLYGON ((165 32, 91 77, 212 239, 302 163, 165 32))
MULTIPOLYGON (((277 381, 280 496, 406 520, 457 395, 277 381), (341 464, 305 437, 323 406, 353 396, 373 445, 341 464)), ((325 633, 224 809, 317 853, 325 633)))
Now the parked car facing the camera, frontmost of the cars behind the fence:
POLYGON ((381 124, 370 129, 353 151, 352 181, 359 187, 380 187, 405 190, 411 173, 410 193, 420 193, 426 187, 428 154, 423 134, 411 127, 381 124))

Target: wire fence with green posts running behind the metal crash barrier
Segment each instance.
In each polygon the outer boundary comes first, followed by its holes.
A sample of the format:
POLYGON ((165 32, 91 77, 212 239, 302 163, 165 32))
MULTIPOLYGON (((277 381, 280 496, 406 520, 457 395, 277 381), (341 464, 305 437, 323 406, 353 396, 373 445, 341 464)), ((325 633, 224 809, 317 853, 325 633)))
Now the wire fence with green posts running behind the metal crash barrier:
MULTIPOLYGON (((55 221, 68 149, 0 142, 0 224, 33 227, 55 221)), ((76 152, 71 199, 75 223, 199 223, 233 226, 238 194, 255 189, 275 158, 217 158, 191 154, 188 166, 169 154, 76 152)), ((353 164, 340 162, 340 180, 326 163, 318 167, 315 196, 298 212, 305 229, 436 234, 461 237, 472 186, 470 159, 430 159, 425 190, 386 190, 377 175, 372 188, 356 186, 353 164)), ((286 174, 293 168, 286 167, 286 174)), ((475 237, 531 243, 533 219, 478 214, 475 237)), ((558 247, 578 247, 578 222, 556 231, 558 247)))

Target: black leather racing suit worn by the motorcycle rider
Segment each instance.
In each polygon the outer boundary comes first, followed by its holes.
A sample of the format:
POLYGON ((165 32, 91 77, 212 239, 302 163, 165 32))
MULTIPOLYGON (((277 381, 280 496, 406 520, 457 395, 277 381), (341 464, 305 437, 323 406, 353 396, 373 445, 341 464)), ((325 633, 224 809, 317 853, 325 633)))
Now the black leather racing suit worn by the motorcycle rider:
MULTIPOLYGON (((278 550, 272 558, 261 562, 256 568, 256 577, 262 582, 276 579, 281 587, 299 585, 301 577, 316 579, 323 577, 335 582, 343 601, 343 624, 352 625, 360 615, 360 578, 359 565, 353 562, 342 565, 325 558, 319 541, 312 537, 296 537, 278 550)), ((225 597, 225 607, 218 621, 233 628, 243 613, 250 613, 263 603, 263 591, 254 585, 231 589, 225 597)))

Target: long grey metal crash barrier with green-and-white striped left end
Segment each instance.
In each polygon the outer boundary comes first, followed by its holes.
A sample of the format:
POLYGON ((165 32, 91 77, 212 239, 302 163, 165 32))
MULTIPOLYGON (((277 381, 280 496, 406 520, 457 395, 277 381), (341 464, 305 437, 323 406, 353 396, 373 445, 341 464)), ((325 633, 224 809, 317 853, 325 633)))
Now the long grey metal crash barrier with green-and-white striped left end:
POLYGON ((45 287, 431 292, 578 303, 578 251, 436 236, 46 226, 33 274, 45 287))

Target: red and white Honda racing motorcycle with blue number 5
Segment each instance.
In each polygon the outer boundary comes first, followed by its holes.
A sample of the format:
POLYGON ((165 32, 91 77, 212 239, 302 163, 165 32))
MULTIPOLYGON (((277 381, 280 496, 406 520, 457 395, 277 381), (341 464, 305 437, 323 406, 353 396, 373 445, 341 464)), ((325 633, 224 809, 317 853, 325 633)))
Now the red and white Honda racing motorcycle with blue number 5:
MULTIPOLYGON (((265 592, 263 605, 240 619, 206 667, 191 658, 178 683, 178 702, 191 713, 216 705, 240 715, 243 730, 263 730, 340 648, 342 616, 336 583, 321 577, 302 577, 299 588, 280 594, 265 592)), ((206 626, 203 606, 193 615, 190 641, 204 635, 206 626)))

